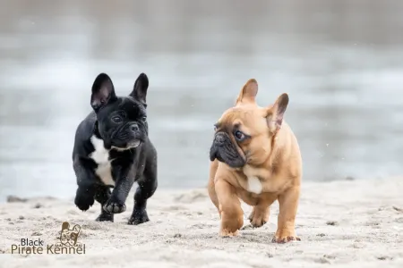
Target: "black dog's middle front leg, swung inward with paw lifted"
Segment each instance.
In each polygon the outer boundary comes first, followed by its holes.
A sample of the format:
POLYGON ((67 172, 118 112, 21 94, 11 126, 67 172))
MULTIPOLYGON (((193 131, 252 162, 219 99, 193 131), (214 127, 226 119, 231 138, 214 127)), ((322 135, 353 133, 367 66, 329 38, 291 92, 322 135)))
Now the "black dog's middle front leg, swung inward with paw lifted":
POLYGON ((116 186, 112 191, 112 195, 107 200, 107 203, 103 205, 103 209, 107 213, 120 214, 126 210, 124 203, 134 183, 133 176, 128 176, 129 172, 130 168, 121 168, 116 172, 116 186))

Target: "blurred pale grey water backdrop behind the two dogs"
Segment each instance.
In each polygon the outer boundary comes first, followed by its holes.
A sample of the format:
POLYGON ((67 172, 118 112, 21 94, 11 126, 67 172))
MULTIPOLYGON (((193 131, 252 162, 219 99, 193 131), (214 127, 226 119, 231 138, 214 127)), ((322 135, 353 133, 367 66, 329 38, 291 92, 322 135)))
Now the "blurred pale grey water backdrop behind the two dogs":
POLYGON ((161 188, 202 187, 250 78, 287 92, 304 180, 402 174, 403 1, 0 1, 0 200, 73 197, 73 136, 107 72, 150 78, 161 188))

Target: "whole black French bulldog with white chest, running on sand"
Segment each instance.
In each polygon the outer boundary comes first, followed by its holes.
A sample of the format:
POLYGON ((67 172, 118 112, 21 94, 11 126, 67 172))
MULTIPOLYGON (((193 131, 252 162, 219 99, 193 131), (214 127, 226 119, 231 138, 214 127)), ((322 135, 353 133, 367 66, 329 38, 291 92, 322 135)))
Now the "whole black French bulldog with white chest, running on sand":
POLYGON ((129 224, 150 221, 146 206, 157 189, 157 151, 148 137, 146 96, 149 79, 141 73, 129 96, 116 96, 112 80, 100 73, 92 85, 91 112, 79 124, 73 147, 77 177, 75 205, 86 211, 97 200, 98 222, 114 222, 123 213, 134 181, 129 224), (114 188, 112 191, 110 188, 114 188))

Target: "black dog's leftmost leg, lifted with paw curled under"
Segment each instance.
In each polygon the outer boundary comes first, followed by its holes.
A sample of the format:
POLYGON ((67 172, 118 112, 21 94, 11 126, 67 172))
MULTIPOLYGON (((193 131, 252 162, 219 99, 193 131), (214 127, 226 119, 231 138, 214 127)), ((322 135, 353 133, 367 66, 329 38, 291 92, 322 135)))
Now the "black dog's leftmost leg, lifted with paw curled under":
POLYGON ((74 198, 74 204, 82 211, 86 211, 91 205, 94 205, 94 195, 96 192, 96 179, 93 172, 85 168, 82 160, 78 157, 73 161, 73 170, 77 177, 77 192, 74 198))

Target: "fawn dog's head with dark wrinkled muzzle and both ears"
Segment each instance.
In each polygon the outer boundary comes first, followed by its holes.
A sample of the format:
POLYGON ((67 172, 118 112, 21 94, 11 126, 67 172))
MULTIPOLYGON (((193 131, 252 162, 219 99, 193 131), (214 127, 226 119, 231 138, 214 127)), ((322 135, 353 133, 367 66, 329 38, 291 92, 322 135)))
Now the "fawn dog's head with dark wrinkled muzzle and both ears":
POLYGON ((210 161, 218 159, 232 168, 259 165, 271 152, 272 138, 280 129, 288 105, 287 94, 274 105, 256 105, 256 80, 248 80, 236 99, 236 105, 224 112, 215 126, 210 161))

